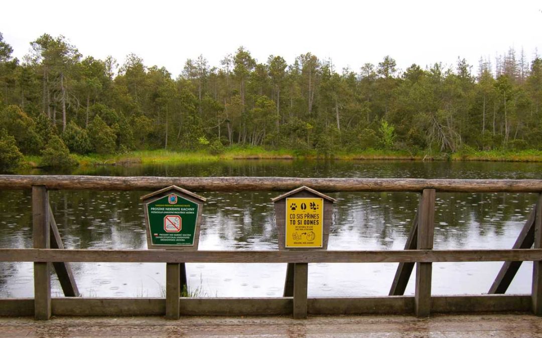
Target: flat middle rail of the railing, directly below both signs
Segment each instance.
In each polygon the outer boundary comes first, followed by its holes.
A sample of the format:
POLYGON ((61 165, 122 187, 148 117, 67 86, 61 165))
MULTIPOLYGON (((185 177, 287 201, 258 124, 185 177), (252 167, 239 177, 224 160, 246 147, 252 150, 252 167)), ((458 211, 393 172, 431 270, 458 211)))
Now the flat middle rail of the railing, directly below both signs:
POLYGON ((172 251, 0 249, 4 262, 396 263, 542 261, 542 249, 376 251, 172 251))

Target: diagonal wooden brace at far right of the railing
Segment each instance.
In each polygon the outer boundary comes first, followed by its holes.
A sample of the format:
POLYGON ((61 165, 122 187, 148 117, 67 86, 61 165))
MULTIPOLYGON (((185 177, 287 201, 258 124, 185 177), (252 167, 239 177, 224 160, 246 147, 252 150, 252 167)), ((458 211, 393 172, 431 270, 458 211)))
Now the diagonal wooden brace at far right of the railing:
MULTIPOLYGON (((534 220, 536 217, 537 206, 534 205, 533 211, 527 218, 525 226, 521 229, 518 239, 515 241, 513 249, 531 249, 534 243, 534 220)), ((499 274, 495 277, 491 288, 489 288, 488 294, 504 294, 512 283, 515 274, 518 273, 519 267, 522 261, 504 262, 499 274)))

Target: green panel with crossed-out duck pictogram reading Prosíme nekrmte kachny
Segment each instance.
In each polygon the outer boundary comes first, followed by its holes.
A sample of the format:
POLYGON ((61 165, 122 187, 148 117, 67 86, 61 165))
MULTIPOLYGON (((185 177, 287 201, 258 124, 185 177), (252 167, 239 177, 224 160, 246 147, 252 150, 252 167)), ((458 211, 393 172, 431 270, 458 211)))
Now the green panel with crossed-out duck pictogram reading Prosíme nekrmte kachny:
POLYGON ((172 192, 145 202, 153 246, 193 246, 199 205, 172 192))

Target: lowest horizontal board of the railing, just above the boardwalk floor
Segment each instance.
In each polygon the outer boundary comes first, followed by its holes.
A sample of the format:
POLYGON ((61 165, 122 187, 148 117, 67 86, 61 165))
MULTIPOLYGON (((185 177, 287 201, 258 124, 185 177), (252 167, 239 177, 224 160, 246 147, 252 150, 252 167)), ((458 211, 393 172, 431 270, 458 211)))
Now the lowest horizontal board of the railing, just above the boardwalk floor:
MULTIPOLYGON (((162 316, 164 298, 56 297, 51 299, 55 316, 162 316)), ((180 315, 288 315, 292 297, 181 298, 180 315)), ((447 295, 431 297, 435 313, 530 312, 531 295, 447 295)), ((414 296, 309 297, 311 315, 413 314, 414 296)), ((0 316, 31 316, 33 299, 0 299, 0 316)), ((339 318, 339 317, 338 317, 339 318)))

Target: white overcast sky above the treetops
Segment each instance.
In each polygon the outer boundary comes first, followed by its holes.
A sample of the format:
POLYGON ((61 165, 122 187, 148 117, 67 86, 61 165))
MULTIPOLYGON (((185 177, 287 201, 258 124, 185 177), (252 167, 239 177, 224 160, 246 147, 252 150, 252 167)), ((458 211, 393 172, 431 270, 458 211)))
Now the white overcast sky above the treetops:
POLYGON ((210 65, 243 45, 259 62, 270 54, 288 63, 311 52, 336 69, 359 72, 385 55, 399 69, 417 63, 476 71, 481 56, 509 47, 532 59, 542 54, 542 1, 9 1, 0 32, 21 58, 31 41, 64 35, 83 56, 112 55, 122 64, 135 53, 147 66, 180 74, 187 58, 210 65))

